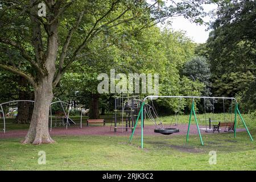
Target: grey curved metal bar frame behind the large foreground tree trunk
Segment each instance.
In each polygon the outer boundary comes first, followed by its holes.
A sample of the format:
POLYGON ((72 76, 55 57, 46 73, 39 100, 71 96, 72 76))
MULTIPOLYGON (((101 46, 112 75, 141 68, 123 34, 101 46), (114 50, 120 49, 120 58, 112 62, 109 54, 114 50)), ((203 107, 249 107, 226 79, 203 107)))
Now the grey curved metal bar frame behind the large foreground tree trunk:
MULTIPOLYGON (((60 103, 61 108, 63 109, 63 113, 65 115, 66 122, 65 122, 65 124, 63 123, 63 125, 66 126, 66 129, 67 129, 68 125, 70 125, 71 122, 76 124, 74 121, 72 121, 71 118, 69 118, 69 110, 70 109, 68 109, 68 113, 65 112, 63 104, 67 104, 67 105, 69 105, 69 104, 67 102, 61 101, 59 98, 57 98, 57 100, 58 101, 56 101, 56 102, 52 102, 50 104, 50 108, 49 108, 49 111, 50 111, 50 131, 52 131, 52 109, 51 109, 51 106, 53 104, 60 103)), ((3 110, 3 105, 10 104, 10 103, 13 103, 13 102, 33 102, 34 103, 35 101, 31 101, 31 100, 15 100, 15 101, 9 101, 9 102, 4 102, 4 103, 0 104, 0 109, 1 109, 1 112, 2 112, 2 115, 3 115, 3 133, 6 132, 6 117, 5 117, 5 111, 3 110)), ((64 122, 64 120, 63 120, 63 122, 64 122)))

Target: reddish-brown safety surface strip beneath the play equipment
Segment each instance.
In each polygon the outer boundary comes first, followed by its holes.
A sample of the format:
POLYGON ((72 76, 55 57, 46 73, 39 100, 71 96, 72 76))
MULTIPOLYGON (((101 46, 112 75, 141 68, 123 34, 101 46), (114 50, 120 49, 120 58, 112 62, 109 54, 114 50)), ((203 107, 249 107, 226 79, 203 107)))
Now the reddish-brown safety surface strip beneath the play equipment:
MULTIPOLYGON (((80 125, 79 125, 80 126, 80 125)), ((75 125, 68 127, 66 130, 65 127, 56 127, 52 128, 52 131, 49 132, 51 136, 82 136, 82 135, 98 135, 98 136, 130 136, 131 129, 125 131, 125 129, 118 128, 117 132, 114 132, 114 127, 110 131, 110 126, 99 126, 99 125, 92 125, 89 127, 83 126, 82 129, 75 125)), ((169 125, 166 125, 169 127, 169 125)), ((171 134, 173 135, 186 135, 188 130, 188 125, 180 124, 178 126, 171 126, 172 128, 177 128, 180 130, 179 133, 171 134)), ((205 126, 199 126, 199 128, 204 128, 205 126)), ((144 135, 162 135, 159 133, 154 133, 155 126, 154 125, 145 125, 143 128, 144 135)), ((6 133, 3 134, 3 131, 0 132, 0 138, 19 138, 19 137, 26 137, 28 130, 9 130, 6 128, 6 133)), ((246 131, 245 129, 237 129, 237 132, 246 131)), ((213 134, 213 133, 205 133, 205 130, 200 130, 202 135, 205 134, 213 134)), ((224 129, 221 129, 221 133, 224 133, 224 129)), ((190 135, 198 134, 196 125, 191 125, 189 130, 190 135)), ((214 134, 218 134, 218 131, 215 131, 214 134)), ((135 130, 134 135, 141 135, 141 127, 137 127, 135 130)))

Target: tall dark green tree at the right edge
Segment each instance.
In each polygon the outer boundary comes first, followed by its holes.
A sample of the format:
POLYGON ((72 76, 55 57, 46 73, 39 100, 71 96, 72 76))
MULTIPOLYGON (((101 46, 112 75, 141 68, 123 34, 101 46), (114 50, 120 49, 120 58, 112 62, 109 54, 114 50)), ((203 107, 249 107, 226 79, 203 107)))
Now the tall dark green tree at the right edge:
POLYGON ((232 0, 218 4, 213 31, 205 47, 201 47, 201 53, 206 51, 210 60, 212 92, 241 98, 242 105, 247 105, 243 109, 253 110, 255 104, 250 101, 255 92, 256 2, 232 0))

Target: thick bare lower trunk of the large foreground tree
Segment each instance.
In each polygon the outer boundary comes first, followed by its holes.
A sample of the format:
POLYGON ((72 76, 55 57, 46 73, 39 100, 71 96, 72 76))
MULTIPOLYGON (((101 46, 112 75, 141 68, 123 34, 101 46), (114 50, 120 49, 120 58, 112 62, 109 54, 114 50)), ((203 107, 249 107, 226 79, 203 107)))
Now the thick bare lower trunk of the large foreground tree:
POLYGON ((52 102, 52 81, 43 78, 35 89, 35 104, 30 129, 23 143, 53 143, 48 130, 49 105, 52 102))

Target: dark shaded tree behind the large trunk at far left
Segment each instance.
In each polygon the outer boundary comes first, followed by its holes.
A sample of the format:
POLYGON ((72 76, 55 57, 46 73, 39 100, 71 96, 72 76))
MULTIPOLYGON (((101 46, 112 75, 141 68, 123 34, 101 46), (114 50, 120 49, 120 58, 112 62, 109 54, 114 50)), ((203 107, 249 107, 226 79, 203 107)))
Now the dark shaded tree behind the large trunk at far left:
MULTIPOLYGON (((23 70, 26 69, 26 65, 22 64, 24 63, 24 59, 18 51, 2 45, 0 45, 0 50, 0 59, 2 61, 8 60, 12 65, 14 65, 14 62, 19 62, 17 67, 23 70)), ((1 103, 12 100, 34 100, 34 92, 26 78, 11 72, 2 71, 0 72, 0 80, 1 103)), ((18 115, 14 123, 29 123, 31 121, 34 104, 31 102, 18 102, 18 105, 15 105, 15 103, 11 104, 18 106, 18 115)))

